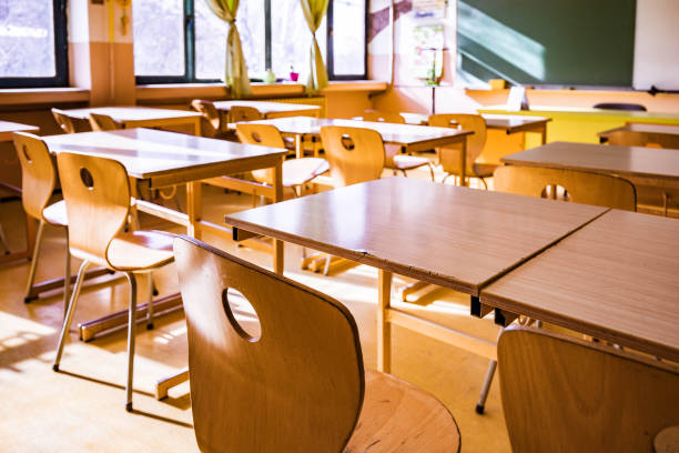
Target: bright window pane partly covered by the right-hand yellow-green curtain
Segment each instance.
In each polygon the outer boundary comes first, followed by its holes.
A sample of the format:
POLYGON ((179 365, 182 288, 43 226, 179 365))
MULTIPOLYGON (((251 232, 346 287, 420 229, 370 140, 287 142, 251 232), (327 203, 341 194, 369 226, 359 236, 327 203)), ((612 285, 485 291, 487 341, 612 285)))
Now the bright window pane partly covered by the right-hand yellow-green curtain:
MULTIPOLYGON (((326 30, 324 18, 316 31, 316 39, 325 62, 326 30)), ((271 63, 276 77, 287 79, 292 64, 296 72, 301 72, 300 81, 306 82, 312 37, 300 0, 272 2, 271 41, 271 63)))

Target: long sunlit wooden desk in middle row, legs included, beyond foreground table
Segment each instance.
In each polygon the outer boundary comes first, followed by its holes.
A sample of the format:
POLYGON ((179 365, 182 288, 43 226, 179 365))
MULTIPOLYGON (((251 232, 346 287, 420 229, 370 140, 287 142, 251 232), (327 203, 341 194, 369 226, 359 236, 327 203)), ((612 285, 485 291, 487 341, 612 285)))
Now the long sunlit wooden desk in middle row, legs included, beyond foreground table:
MULTIPOLYGON (((321 128, 326 125, 372 129, 379 132, 382 140, 385 143, 399 145, 402 152, 404 153, 426 151, 434 148, 460 143, 463 151, 459 153, 459 164, 462 169, 460 181, 463 181, 463 185, 466 184, 465 169, 467 160, 467 135, 472 134, 472 131, 459 131, 450 128, 432 128, 424 125, 394 124, 356 120, 317 119, 308 117, 278 118, 251 122, 273 124, 281 132, 295 135, 297 158, 302 157, 302 141, 304 137, 312 135, 317 138, 321 133, 321 128)), ((233 127, 233 124, 231 127, 233 127)))

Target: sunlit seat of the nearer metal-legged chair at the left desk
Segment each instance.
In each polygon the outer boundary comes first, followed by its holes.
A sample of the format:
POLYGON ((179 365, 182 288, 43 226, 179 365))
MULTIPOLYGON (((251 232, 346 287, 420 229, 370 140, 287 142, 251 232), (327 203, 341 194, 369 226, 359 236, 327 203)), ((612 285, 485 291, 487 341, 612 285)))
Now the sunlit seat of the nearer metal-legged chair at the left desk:
POLYGON ((118 271, 142 271, 168 264, 174 259, 174 235, 161 231, 119 234, 109 245, 108 258, 118 271))

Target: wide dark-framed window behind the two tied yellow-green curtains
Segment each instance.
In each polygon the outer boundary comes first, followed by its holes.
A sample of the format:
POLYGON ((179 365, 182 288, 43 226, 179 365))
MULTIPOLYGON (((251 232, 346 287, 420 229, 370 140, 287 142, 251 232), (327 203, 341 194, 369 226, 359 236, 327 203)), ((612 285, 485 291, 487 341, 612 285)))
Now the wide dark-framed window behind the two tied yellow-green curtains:
MULTIPOLYGON (((133 7, 138 83, 224 80, 229 26, 204 0, 134 0, 133 7)), ((366 77, 366 12, 365 0, 331 1, 316 32, 331 79, 366 77)), ((312 37, 300 0, 241 0, 236 23, 251 79, 262 80, 267 68, 280 79, 291 67, 308 72, 312 37)))

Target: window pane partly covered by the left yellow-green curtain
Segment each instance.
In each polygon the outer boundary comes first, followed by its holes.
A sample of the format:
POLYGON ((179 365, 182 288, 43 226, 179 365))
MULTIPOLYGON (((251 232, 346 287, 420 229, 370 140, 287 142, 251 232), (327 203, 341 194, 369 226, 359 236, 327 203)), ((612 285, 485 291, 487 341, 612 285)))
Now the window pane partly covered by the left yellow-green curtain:
MULTIPOLYGON (((241 0, 236 14, 250 77, 264 73, 264 0, 241 0)), ((224 80, 229 26, 204 0, 195 0, 195 77, 224 80)))

